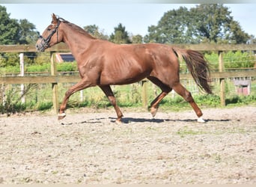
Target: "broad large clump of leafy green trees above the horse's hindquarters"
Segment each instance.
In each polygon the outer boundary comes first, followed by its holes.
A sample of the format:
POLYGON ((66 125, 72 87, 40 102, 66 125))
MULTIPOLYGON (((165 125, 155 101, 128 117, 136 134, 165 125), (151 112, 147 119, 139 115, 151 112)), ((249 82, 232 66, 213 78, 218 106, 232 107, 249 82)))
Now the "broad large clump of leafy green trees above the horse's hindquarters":
POLYGON ((158 25, 148 27, 146 42, 157 43, 246 43, 249 34, 223 4, 180 7, 164 13, 158 25))

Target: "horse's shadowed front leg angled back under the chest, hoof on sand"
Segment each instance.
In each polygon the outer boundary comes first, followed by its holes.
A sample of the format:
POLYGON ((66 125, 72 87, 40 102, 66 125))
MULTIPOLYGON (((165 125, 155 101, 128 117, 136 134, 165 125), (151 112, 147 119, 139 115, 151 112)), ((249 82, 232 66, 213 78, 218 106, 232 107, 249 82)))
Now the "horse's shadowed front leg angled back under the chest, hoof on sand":
POLYGON ((116 102, 114 93, 112 91, 112 89, 110 88, 109 85, 104 85, 104 86, 100 86, 100 88, 103 90, 103 92, 106 94, 106 96, 109 99, 109 102, 114 106, 115 108, 115 112, 118 115, 118 119, 116 120, 117 123, 121 123, 121 117, 123 117, 123 114, 120 110, 120 108, 118 107, 118 104, 116 102))

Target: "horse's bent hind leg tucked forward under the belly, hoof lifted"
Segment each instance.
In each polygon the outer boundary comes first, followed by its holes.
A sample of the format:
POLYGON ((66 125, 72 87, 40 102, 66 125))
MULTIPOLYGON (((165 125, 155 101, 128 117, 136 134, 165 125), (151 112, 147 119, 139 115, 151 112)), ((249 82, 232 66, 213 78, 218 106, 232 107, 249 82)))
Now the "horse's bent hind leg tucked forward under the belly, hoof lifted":
POLYGON ((152 117, 155 117, 159 103, 171 91, 171 88, 168 85, 164 85, 159 79, 156 79, 155 77, 147 77, 147 79, 149 79, 151 82, 153 82, 153 84, 157 85, 162 90, 159 96, 156 96, 156 99, 153 99, 153 101, 150 103, 150 113, 152 114, 152 117))

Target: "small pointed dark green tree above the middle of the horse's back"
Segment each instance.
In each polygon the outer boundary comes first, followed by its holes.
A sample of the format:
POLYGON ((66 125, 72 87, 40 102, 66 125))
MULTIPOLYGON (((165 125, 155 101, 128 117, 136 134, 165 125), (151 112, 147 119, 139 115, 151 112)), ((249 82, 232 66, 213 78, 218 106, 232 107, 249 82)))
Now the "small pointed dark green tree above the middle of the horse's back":
POLYGON ((118 27, 115 27, 114 29, 114 33, 110 35, 110 41, 114 43, 132 43, 131 40, 129 40, 125 27, 121 23, 119 23, 118 27))

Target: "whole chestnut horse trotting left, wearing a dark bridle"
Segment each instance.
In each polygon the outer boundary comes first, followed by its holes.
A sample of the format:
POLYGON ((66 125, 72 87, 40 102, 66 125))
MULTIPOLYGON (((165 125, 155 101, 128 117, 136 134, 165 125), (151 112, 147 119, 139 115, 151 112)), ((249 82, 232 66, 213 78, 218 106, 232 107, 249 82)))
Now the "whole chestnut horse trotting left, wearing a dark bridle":
POLYGON ((179 59, 183 58, 196 84, 206 93, 212 93, 208 85, 209 69, 204 56, 190 49, 159 44, 119 45, 92 37, 79 26, 57 18, 52 14, 52 23, 37 40, 37 50, 43 52, 56 43, 64 42, 70 48, 77 61, 81 81, 73 85, 61 103, 58 120, 63 119, 67 101, 76 91, 99 86, 114 106, 121 123, 123 114, 117 105, 110 85, 127 85, 147 78, 159 86, 161 93, 150 104, 150 112, 156 115, 159 102, 172 90, 189 102, 198 116, 198 122, 204 122, 201 109, 192 95, 180 84, 179 59))

